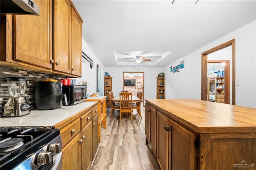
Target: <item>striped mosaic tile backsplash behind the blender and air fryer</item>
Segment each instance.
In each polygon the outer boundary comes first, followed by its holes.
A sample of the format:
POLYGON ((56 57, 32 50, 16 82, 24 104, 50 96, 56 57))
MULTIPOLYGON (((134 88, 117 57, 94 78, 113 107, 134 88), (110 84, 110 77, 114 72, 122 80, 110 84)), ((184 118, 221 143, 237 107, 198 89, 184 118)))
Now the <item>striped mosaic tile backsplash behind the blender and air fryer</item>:
POLYGON ((33 71, 28 71, 24 69, 12 68, 0 65, 0 114, 4 113, 4 105, 8 101, 10 94, 7 89, 7 77, 26 77, 27 78, 27 89, 25 97, 30 103, 31 110, 36 109, 35 104, 35 91, 36 91, 36 81, 41 81, 42 79, 56 78, 54 75, 49 75, 45 73, 38 73, 33 71))

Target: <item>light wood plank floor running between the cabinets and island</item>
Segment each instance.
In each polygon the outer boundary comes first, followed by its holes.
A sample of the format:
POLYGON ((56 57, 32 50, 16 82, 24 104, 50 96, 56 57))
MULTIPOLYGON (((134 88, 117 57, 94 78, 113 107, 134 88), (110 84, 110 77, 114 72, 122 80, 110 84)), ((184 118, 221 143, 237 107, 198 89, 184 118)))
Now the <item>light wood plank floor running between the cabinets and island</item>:
MULTIPOLYGON (((160 170, 150 145, 146 145, 145 107, 142 119, 116 118, 118 111, 110 118, 107 108, 107 128, 101 128, 101 142, 92 161, 91 170, 160 170)), ((137 114, 134 110, 133 114, 137 114)))

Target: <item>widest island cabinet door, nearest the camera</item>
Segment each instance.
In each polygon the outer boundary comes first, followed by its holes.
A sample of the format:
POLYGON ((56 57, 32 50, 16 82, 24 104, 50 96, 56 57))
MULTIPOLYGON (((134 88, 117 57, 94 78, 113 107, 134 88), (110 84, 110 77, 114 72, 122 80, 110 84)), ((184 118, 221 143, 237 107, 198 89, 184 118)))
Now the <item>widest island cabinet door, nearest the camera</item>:
POLYGON ((170 123, 170 168, 195 170, 197 150, 196 135, 174 121, 170 123))

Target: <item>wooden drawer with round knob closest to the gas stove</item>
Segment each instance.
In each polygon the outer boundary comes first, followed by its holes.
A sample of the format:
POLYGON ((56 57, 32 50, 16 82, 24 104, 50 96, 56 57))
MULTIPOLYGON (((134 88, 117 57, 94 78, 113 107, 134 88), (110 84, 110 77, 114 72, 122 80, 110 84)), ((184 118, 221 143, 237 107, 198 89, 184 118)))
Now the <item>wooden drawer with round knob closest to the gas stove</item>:
POLYGON ((72 123, 60 129, 62 147, 64 147, 76 134, 80 132, 80 119, 74 120, 72 123))

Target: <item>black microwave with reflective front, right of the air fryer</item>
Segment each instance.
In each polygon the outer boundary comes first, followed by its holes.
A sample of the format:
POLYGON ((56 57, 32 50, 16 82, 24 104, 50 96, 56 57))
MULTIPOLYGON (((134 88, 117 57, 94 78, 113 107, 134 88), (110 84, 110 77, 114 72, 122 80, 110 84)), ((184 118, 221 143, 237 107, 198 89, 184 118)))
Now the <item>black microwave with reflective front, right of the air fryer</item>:
POLYGON ((62 94, 66 94, 68 105, 76 105, 86 99, 85 85, 63 85, 62 94))

